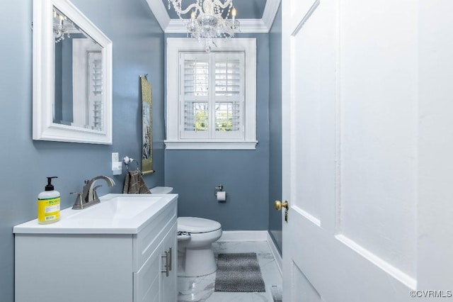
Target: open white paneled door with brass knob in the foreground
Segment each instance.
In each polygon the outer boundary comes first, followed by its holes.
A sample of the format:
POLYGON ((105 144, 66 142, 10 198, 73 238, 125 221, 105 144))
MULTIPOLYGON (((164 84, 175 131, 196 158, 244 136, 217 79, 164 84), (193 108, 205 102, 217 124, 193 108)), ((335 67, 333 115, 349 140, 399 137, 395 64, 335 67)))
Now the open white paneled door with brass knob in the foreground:
POLYGON ((285 301, 417 289, 418 4, 362 2, 282 1, 285 301))

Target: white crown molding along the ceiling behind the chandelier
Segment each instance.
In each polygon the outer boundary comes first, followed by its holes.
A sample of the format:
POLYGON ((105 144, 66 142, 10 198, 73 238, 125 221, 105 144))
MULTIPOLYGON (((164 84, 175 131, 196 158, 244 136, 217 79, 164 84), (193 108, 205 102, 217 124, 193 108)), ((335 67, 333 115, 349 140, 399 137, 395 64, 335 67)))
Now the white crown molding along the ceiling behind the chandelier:
MULTIPOLYGON (((179 19, 171 19, 161 0, 147 0, 147 4, 164 33, 187 33, 187 23, 181 22, 179 19)), ((241 23, 240 33, 268 33, 274 22, 278 6, 280 6, 280 0, 267 0, 262 18, 238 18, 241 23)))

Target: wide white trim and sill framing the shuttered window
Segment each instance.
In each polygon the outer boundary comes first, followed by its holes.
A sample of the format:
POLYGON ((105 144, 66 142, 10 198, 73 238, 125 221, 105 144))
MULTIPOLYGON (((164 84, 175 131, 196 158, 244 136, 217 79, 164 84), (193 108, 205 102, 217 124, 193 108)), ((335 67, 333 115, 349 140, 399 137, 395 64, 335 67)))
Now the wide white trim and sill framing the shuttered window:
POLYGON ((246 73, 243 115, 244 136, 240 139, 187 139, 180 138, 179 53, 204 52, 204 46, 193 38, 166 39, 166 140, 168 150, 255 150, 256 144, 256 38, 220 40, 212 52, 244 52, 246 73))

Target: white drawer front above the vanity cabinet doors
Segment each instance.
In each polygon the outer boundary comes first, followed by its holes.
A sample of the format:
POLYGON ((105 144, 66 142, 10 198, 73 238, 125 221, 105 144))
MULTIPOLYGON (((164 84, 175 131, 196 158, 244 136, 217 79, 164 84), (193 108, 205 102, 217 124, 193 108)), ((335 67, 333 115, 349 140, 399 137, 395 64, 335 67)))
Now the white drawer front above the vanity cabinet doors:
MULTIPOLYGON (((143 230, 134 235, 133 272, 138 272, 152 252, 156 250, 156 247, 164 239, 173 224, 176 223, 176 205, 177 199, 174 199, 143 230)), ((176 233, 174 235, 176 236, 176 233)))

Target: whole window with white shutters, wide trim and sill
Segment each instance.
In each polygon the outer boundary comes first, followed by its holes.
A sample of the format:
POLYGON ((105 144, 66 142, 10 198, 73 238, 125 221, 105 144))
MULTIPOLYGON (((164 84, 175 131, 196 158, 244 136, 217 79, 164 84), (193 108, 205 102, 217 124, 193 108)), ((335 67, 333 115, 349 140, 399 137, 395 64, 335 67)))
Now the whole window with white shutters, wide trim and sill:
POLYGON ((167 39, 167 149, 256 148, 256 40, 167 39))

